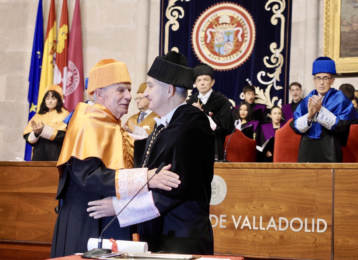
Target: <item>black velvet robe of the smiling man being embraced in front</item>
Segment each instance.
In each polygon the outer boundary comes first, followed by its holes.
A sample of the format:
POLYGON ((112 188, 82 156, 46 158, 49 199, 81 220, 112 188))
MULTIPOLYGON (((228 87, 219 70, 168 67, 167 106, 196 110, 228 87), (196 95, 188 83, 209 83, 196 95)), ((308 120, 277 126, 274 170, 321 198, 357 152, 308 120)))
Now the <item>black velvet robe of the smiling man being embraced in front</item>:
MULTIPOLYGON (((147 138, 146 151, 152 135, 147 138)), ((146 166, 153 169, 161 162, 170 163, 170 171, 178 174, 182 183, 171 191, 152 190, 161 216, 139 224, 141 241, 148 243, 149 251, 213 255, 209 203, 214 141, 205 114, 192 105, 182 105, 151 145, 146 166)))

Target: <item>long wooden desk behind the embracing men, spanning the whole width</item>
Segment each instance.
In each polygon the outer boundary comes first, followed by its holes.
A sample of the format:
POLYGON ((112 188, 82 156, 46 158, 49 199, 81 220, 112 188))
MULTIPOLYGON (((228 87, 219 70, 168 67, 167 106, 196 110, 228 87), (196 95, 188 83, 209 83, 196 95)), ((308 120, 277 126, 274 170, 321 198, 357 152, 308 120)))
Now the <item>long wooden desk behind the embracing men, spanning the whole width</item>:
MULTIPOLYGON (((0 162, 0 259, 49 258, 55 166, 0 162)), ((216 163, 217 205, 210 208, 215 252, 358 259, 357 170, 358 164, 342 163, 216 163)))

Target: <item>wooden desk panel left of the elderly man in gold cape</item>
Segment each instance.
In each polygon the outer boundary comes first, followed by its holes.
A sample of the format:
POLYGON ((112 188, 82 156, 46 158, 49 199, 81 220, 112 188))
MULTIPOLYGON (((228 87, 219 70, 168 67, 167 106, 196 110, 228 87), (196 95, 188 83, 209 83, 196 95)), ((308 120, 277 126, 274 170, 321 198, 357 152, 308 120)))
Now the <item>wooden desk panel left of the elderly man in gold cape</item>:
POLYGON ((2 162, 0 239, 51 242, 57 186, 54 162, 2 162))

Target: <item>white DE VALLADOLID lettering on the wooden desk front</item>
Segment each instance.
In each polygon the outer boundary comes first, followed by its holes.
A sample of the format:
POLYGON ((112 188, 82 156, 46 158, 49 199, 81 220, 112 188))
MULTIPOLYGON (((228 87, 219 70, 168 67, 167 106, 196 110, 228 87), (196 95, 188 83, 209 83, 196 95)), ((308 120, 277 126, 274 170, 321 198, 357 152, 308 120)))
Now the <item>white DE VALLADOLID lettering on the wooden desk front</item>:
MULTIPOLYGON (((324 219, 310 219, 311 222, 308 222, 308 219, 300 219, 299 217, 294 217, 290 221, 285 217, 279 217, 278 221, 271 217, 269 222, 263 222, 262 216, 259 217, 259 221, 256 220, 256 216, 252 216, 249 219, 248 216, 242 220, 242 216, 239 216, 238 219, 235 216, 231 216, 232 221, 235 225, 235 229, 243 229, 247 227, 248 229, 256 230, 269 230, 275 229, 276 231, 285 231, 290 227, 292 231, 299 232, 304 229, 304 232, 318 232, 322 233, 327 229, 327 222, 324 219), (267 223, 267 224, 265 224, 267 223)), ((220 215, 219 218, 216 215, 210 214, 210 221, 212 227, 216 227, 219 224, 219 227, 226 228, 226 215, 220 215)))

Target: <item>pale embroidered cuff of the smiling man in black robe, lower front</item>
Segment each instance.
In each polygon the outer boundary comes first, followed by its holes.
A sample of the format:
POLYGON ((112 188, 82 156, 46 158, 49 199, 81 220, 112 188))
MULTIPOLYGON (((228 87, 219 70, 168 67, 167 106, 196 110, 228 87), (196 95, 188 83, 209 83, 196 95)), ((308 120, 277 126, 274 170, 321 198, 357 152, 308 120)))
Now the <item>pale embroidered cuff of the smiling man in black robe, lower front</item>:
MULTIPOLYGON (((118 200, 117 197, 112 197, 113 208, 116 215, 125 205, 131 200, 131 197, 118 200)), ((159 217, 160 213, 154 204, 152 192, 145 194, 138 194, 128 206, 117 216, 121 227, 141 223, 147 220, 159 217)))

